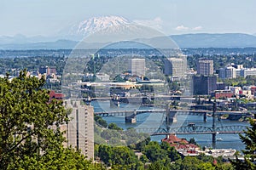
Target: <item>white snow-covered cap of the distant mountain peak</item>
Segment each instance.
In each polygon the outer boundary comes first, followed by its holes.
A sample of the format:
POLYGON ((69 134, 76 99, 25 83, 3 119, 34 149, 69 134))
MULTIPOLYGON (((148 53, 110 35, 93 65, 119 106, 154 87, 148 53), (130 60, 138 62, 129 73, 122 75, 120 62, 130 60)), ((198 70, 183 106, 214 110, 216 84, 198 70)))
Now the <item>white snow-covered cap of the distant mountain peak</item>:
POLYGON ((130 23, 129 20, 119 16, 94 17, 72 26, 70 31, 68 31, 68 35, 85 37, 98 31, 114 32, 124 28, 130 23))

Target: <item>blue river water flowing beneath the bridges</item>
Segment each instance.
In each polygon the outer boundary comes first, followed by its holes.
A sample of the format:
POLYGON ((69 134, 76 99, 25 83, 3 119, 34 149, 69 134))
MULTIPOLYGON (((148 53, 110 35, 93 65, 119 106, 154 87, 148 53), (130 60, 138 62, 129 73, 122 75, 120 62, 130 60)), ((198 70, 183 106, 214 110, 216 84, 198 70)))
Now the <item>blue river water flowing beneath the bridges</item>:
MULTIPOLYGON (((109 101, 92 101, 91 105, 94 106, 94 111, 134 111, 135 109, 139 110, 153 110, 160 108, 146 107, 146 106, 138 106, 138 105, 126 105, 120 104, 119 107, 110 107, 109 101)), ((163 108, 162 108, 163 109, 163 108)), ((124 129, 128 127, 135 128, 144 128, 144 127, 154 127, 158 128, 161 126, 161 122, 165 119, 163 113, 143 113, 137 115, 137 123, 125 123, 124 116, 108 116, 103 117, 108 123, 114 122, 119 127, 124 129)), ((207 116, 207 122, 203 121, 202 116, 184 116, 177 115, 177 122, 173 122, 171 127, 180 127, 186 126, 189 123, 195 123, 196 126, 203 127, 212 127, 212 116, 207 116)), ((237 121, 229 121, 229 120, 221 120, 218 121, 216 119, 216 127, 221 126, 232 126, 232 125, 242 125, 247 126, 247 122, 237 122, 237 121)), ((179 138, 191 139, 194 138, 197 144, 201 146, 212 147, 212 134, 185 134, 185 135, 177 135, 179 138)), ((154 141, 159 141, 165 138, 164 135, 160 136, 151 136, 151 139, 154 141)), ((223 139, 222 141, 217 141, 216 148, 218 149, 235 149, 235 150, 243 150, 244 144, 241 143, 238 134, 217 134, 217 138, 223 139)))

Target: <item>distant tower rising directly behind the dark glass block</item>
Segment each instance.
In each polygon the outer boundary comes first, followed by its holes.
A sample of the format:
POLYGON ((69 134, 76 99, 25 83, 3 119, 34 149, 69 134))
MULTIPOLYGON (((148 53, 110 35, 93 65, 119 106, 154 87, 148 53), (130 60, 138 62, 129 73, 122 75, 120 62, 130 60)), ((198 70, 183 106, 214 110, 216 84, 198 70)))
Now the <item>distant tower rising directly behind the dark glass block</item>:
POLYGON ((213 74, 213 60, 212 59, 198 59, 197 60, 197 74, 198 75, 212 75, 213 74))

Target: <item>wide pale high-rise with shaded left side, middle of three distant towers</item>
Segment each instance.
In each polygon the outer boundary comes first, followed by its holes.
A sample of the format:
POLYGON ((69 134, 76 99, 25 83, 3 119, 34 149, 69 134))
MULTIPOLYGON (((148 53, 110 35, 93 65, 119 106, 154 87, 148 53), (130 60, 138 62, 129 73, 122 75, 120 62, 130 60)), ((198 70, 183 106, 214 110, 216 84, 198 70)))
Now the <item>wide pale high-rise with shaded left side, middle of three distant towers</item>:
POLYGON ((165 75, 172 77, 184 77, 186 72, 186 65, 183 59, 168 58, 164 60, 165 75))

